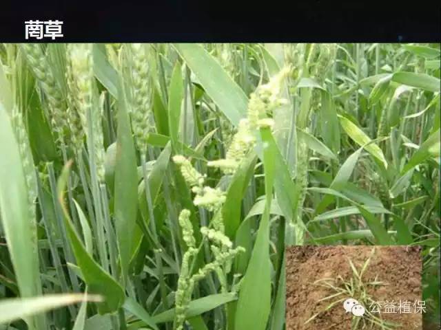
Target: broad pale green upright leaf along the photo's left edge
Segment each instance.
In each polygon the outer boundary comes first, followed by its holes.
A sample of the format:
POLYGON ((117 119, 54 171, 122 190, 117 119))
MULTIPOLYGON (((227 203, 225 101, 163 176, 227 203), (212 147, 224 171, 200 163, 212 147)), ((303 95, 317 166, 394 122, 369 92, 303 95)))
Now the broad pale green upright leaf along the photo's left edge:
MULTIPOLYGON (((35 182, 36 185, 28 187, 25 175, 32 178, 34 172, 32 168, 23 168, 24 161, 29 162, 29 159, 22 159, 20 147, 23 146, 19 146, 10 116, 1 103, 0 141, 0 220, 20 294, 22 297, 37 296, 41 294, 37 223, 30 211, 34 206, 28 201, 28 191, 37 191, 37 181, 35 178, 29 180, 30 184, 35 182)), ((32 159, 30 155, 28 157, 32 159)), ((44 327, 43 318, 36 321, 44 327)), ((34 321, 28 320, 28 326, 35 329, 34 321)))

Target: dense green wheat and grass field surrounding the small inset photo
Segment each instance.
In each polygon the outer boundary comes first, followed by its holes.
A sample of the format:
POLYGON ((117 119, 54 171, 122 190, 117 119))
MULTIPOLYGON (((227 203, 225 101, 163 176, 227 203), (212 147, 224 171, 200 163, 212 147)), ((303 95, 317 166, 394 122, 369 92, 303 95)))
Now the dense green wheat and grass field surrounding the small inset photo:
POLYGON ((438 322, 440 149, 439 44, 1 45, 0 329, 283 330, 303 244, 438 322))

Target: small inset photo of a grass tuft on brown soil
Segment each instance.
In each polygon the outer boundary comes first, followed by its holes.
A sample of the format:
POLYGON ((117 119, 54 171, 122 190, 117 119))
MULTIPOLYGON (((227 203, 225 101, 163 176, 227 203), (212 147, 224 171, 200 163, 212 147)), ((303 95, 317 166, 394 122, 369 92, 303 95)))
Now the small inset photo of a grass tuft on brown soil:
POLYGON ((287 330, 420 330, 420 246, 287 248, 287 330))

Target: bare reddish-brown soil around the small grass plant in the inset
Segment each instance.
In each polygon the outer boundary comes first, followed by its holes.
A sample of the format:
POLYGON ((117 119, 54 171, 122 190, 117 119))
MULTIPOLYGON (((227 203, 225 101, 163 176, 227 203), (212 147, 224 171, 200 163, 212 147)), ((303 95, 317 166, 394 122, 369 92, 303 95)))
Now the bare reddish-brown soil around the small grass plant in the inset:
MULTIPOLYGON (((318 302, 335 292, 314 285, 314 282, 321 278, 337 280, 338 275, 349 281, 353 273, 346 257, 351 259, 357 270, 360 270, 369 258, 371 250, 371 246, 360 245, 287 248, 287 330, 351 330, 352 314, 345 312, 342 303, 337 303, 328 311, 323 311, 329 303, 342 296, 318 302), (305 325, 314 314, 318 316, 305 325)), ((421 271, 419 246, 376 246, 376 252, 363 275, 363 281, 368 283, 378 276, 378 281, 387 283, 387 285, 370 287, 368 294, 373 300, 378 302, 394 300, 397 306, 400 300, 407 300, 413 304, 422 300, 421 271)), ((396 329, 421 330, 422 314, 415 313, 413 308, 411 306, 411 313, 384 314, 383 312, 381 316, 384 320, 402 325, 396 329)), ((384 307, 381 310, 384 311, 384 307)), ((381 327, 374 326, 372 329, 380 330, 381 327)))

